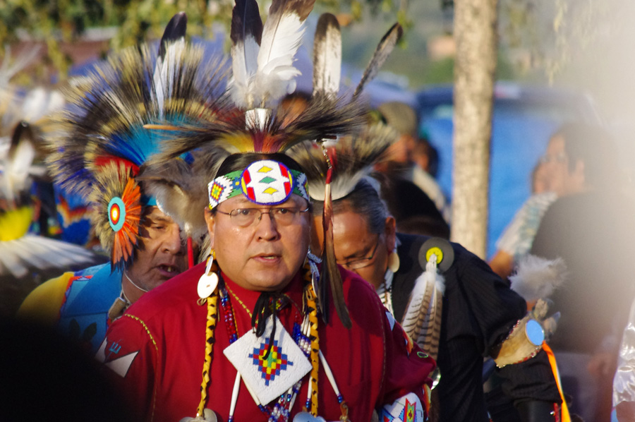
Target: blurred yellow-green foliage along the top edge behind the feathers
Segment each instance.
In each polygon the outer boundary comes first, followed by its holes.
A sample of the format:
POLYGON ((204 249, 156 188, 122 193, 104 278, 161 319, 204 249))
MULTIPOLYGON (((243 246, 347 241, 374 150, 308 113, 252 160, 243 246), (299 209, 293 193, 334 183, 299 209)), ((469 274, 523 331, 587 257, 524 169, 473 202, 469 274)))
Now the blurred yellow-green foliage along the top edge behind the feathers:
MULTIPOLYGON (((234 0, 4 0, 0 1, 0 57, 4 46, 28 38, 47 47, 43 63, 64 78, 71 59, 63 44, 78 42, 88 28, 117 27, 109 49, 119 50, 160 37, 174 13, 188 15, 188 35, 212 37, 212 24, 229 27, 234 0)), ((260 1, 261 8, 264 6, 260 1)), ((348 14, 353 20, 397 15, 404 28, 407 0, 317 0, 316 8, 348 14)), ((72 47, 71 47, 72 48, 72 47)))

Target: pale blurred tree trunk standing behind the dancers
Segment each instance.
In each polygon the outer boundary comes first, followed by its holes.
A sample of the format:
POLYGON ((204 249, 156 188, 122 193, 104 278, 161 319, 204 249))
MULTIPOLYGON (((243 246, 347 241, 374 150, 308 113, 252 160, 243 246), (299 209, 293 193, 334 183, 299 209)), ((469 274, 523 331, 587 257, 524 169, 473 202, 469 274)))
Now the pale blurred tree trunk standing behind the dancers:
POLYGON ((492 95, 497 58, 496 0, 455 0, 452 241, 485 258, 492 95))

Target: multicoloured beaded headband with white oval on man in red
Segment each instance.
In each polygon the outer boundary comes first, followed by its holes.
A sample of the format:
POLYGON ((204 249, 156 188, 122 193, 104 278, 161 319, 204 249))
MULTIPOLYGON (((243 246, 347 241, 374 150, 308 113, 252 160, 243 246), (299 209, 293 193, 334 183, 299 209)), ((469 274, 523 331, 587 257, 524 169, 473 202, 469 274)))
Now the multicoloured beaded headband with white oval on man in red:
POLYGON ((258 205, 284 203, 291 193, 309 200, 306 175, 271 159, 262 159, 249 164, 242 171, 218 176, 207 185, 207 192, 210 210, 241 193, 258 205))

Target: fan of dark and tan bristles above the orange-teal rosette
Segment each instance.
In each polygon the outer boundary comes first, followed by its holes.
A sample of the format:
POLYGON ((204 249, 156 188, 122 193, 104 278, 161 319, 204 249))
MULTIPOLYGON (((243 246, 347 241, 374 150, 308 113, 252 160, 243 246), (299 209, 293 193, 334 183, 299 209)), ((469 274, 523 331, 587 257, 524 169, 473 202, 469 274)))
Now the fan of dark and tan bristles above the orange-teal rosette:
MULTIPOLYGON (((170 116, 186 122, 212 119, 214 104, 209 99, 224 83, 226 67, 222 62, 210 63, 206 68, 210 73, 202 74, 204 60, 202 48, 186 45, 166 59, 174 71, 163 82, 165 87, 157 86, 152 80, 155 54, 142 46, 111 56, 89 76, 73 80, 64 92, 70 107, 59 116, 61 132, 49 140, 53 153, 47 162, 56 180, 71 192, 88 195, 95 182, 92 172, 103 157, 135 163, 136 152, 123 144, 145 123, 164 122, 170 116), (164 95, 162 105, 157 102, 159 91, 164 95)), ((164 135, 147 134, 157 138, 156 143, 164 135)))

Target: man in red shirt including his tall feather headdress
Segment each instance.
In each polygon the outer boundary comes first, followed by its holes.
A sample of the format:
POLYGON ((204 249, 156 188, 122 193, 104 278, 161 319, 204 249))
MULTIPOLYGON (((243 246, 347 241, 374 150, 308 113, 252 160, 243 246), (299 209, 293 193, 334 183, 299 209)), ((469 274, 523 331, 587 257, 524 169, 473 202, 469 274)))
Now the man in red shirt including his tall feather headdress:
MULTIPOLYGON (((204 180, 206 195, 181 212, 202 215, 196 204, 208 200, 202 225, 212 253, 131 306, 97 351, 140 420, 425 420, 433 359, 368 283, 337 267, 332 245, 322 275, 308 248, 306 174, 282 152, 351 133, 364 114, 355 99, 338 101, 341 37, 328 14, 315 37, 316 51, 328 54, 316 54, 320 77, 306 111, 280 107, 295 87, 294 54, 311 8, 313 0, 274 0, 263 26, 255 0, 236 1, 227 91, 193 104, 200 116, 177 123, 156 160, 176 195, 198 192, 204 180), (190 164, 179 160, 183 152, 194 156, 192 177, 179 176, 179 163, 190 164)), ((400 33, 394 25, 379 56, 400 33)))

